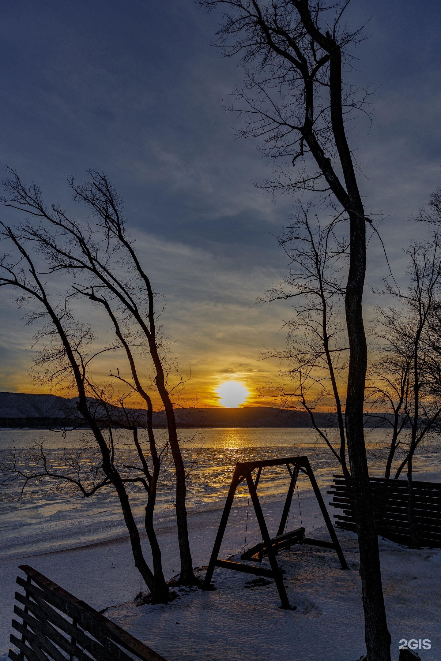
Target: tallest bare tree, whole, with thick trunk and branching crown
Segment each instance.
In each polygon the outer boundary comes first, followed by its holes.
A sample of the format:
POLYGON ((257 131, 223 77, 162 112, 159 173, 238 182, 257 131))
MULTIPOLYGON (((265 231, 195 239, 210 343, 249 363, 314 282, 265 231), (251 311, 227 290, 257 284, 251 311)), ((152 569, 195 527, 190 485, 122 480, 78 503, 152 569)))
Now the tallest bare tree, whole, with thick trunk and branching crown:
POLYGON ((243 136, 262 139, 262 152, 278 167, 271 190, 321 192, 345 212, 350 255, 345 288, 349 364, 346 440, 353 479, 354 514, 360 546, 369 661, 388 661, 391 637, 381 587, 380 557, 364 444, 367 346, 362 315, 366 273, 366 217, 357 165, 346 128, 366 93, 350 85, 350 46, 362 40, 342 22, 348 2, 307 0, 199 0, 225 8, 218 45, 241 56, 245 85, 237 90, 243 136), (300 163, 300 167, 298 167, 300 163), (312 167, 310 167, 312 166, 312 167), (340 174, 341 173, 341 174, 340 174))

